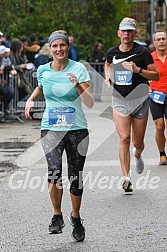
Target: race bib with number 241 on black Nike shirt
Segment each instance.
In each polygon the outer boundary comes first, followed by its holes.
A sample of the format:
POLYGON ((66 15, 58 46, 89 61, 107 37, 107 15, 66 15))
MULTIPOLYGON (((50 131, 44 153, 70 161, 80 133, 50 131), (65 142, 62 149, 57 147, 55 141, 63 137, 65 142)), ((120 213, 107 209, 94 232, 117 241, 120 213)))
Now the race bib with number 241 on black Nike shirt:
POLYGON ((115 84, 117 85, 132 85, 131 71, 115 71, 115 84))

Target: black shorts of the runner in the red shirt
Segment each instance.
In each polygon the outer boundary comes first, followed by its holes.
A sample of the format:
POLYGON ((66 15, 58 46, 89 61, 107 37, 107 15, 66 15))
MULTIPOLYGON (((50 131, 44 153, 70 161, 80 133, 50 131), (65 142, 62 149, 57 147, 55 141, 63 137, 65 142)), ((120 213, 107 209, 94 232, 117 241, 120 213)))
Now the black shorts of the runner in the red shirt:
POLYGON ((165 98, 164 104, 156 103, 150 98, 150 111, 153 120, 164 117, 167 119, 167 97, 165 98))

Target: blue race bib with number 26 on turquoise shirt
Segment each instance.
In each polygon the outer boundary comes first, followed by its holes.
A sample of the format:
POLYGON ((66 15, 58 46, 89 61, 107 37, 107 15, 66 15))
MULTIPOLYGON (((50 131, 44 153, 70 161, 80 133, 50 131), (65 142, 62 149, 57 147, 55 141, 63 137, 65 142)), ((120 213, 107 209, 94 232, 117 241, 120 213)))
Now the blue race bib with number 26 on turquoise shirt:
POLYGON ((71 107, 49 109, 49 125, 54 127, 75 125, 75 109, 71 107))

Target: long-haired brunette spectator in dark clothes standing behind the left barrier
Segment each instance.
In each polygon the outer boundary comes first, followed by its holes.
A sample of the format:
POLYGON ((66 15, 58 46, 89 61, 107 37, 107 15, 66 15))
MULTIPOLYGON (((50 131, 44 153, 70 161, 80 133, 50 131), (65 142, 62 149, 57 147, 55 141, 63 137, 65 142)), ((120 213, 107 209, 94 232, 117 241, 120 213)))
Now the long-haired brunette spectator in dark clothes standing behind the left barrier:
POLYGON ((14 69, 18 73, 18 78, 20 80, 19 84, 19 100, 23 99, 26 95, 32 93, 33 88, 29 83, 28 77, 26 75, 26 63, 27 57, 23 51, 22 42, 19 39, 11 40, 11 52, 10 52, 10 60, 14 65, 14 69))

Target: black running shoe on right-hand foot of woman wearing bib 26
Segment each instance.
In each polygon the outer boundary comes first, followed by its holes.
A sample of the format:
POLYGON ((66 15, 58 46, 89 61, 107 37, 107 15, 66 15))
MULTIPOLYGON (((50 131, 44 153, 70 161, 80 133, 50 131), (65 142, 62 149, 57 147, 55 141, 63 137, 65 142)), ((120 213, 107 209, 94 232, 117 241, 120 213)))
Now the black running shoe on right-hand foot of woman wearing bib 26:
POLYGON ((71 215, 68 216, 70 225, 73 227, 72 238, 76 242, 82 242, 85 239, 85 228, 82 225, 81 218, 75 218, 71 215))

